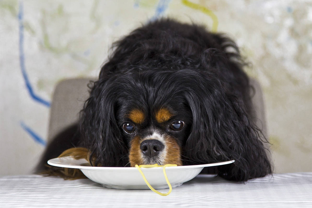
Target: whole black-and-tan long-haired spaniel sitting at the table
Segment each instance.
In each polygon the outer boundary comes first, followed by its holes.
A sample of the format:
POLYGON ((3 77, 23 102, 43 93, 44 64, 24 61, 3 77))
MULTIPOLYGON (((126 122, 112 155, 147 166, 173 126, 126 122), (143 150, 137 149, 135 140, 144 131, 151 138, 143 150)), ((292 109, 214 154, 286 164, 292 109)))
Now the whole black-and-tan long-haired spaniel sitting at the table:
POLYGON ((234 41, 203 26, 160 19, 137 28, 113 44, 80 122, 47 146, 37 171, 77 177, 45 165, 65 151, 92 166, 235 160, 212 172, 233 181, 271 174, 244 65, 234 41))

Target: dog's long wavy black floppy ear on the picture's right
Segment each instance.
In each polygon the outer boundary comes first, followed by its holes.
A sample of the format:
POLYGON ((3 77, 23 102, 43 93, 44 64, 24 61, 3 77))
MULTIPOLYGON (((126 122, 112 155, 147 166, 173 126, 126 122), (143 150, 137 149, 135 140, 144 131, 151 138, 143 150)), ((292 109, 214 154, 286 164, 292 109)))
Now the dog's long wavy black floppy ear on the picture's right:
POLYGON ((202 73, 188 78, 197 85, 185 92, 193 124, 183 156, 199 164, 235 160, 218 168, 219 175, 229 180, 247 181, 271 173, 261 132, 250 121, 239 92, 215 76, 202 73))

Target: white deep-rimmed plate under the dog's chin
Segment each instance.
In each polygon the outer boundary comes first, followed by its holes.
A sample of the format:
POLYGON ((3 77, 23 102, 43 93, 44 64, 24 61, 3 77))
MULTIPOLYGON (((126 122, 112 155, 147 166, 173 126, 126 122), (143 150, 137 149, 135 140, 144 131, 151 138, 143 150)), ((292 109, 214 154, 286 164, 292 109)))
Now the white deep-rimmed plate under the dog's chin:
MULTIPOLYGON (((232 162, 234 160, 204 165, 166 167, 166 173, 171 186, 178 187, 197 176, 204 167, 226 165, 232 162)), ((85 159, 76 160, 73 157, 54 158, 49 160, 48 164, 57 167, 79 168, 86 177, 102 184, 105 188, 149 189, 136 167, 91 167, 85 159)), ((163 167, 142 167, 141 170, 154 189, 168 188, 163 175, 163 167)))

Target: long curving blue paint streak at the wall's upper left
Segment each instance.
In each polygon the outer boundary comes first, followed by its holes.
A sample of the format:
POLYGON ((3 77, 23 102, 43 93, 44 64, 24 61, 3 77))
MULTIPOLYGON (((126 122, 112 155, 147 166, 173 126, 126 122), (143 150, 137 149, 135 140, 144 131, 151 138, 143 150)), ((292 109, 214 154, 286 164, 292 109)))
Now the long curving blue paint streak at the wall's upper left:
POLYGON ((47 107, 50 107, 51 104, 49 101, 46 101, 42 98, 40 98, 38 95, 36 95, 32 89, 32 86, 30 84, 30 81, 28 79, 27 73, 26 73, 26 67, 25 67, 25 56, 24 56, 24 25, 23 25, 23 4, 20 2, 19 4, 19 11, 18 11, 18 22, 19 22, 19 58, 20 58, 20 66, 22 70, 22 74, 24 77, 24 80, 26 82, 26 87, 28 89, 28 92, 32 99, 35 101, 46 105, 47 107))

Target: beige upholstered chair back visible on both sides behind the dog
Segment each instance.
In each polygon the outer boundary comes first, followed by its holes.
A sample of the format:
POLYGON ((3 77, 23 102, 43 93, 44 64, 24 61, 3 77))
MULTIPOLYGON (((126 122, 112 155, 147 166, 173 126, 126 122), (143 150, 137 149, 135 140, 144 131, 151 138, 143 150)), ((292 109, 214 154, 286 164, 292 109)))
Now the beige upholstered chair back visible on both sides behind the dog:
MULTIPOLYGON (((95 80, 95 78, 67 79, 60 81, 56 85, 50 111, 48 142, 61 130, 78 120, 79 112, 89 96, 87 84, 90 80, 95 80)), ((261 87, 253 79, 251 80, 251 85, 255 89, 255 95, 252 99, 255 122, 259 128, 263 129, 263 133, 266 135, 266 118, 261 87)))

